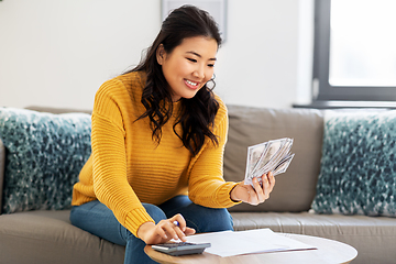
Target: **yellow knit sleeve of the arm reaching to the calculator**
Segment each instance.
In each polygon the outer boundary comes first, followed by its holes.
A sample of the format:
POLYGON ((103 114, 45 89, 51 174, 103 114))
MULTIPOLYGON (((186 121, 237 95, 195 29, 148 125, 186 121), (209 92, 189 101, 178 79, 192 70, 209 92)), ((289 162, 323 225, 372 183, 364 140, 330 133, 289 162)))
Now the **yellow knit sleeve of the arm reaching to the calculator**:
POLYGON ((105 84, 96 96, 91 135, 94 191, 136 235, 139 227, 153 219, 128 182, 122 100, 130 97, 124 89, 114 89, 117 85, 122 86, 116 80, 105 84))

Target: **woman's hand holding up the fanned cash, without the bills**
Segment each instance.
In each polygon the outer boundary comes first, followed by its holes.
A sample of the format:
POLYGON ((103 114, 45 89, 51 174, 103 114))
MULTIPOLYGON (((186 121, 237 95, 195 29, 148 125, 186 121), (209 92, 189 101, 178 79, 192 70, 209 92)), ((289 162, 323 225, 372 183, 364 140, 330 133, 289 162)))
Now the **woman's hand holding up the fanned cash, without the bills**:
POLYGON ((231 190, 231 199, 235 201, 244 201, 253 206, 264 202, 270 198, 270 194, 274 189, 274 174, 272 172, 263 174, 262 183, 263 187, 260 186, 257 178, 253 178, 253 187, 251 185, 244 185, 244 182, 239 183, 231 190))

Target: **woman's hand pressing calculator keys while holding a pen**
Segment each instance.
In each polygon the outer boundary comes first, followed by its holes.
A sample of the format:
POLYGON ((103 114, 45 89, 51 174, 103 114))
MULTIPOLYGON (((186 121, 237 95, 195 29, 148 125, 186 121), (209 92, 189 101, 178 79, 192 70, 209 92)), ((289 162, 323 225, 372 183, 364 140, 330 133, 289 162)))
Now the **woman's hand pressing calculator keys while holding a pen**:
POLYGON ((146 244, 161 244, 175 239, 186 242, 186 235, 194 234, 195 230, 187 228, 186 220, 180 213, 161 220, 157 224, 153 222, 145 222, 138 229, 138 238, 143 240, 146 244), (178 226, 175 222, 178 222, 178 226))

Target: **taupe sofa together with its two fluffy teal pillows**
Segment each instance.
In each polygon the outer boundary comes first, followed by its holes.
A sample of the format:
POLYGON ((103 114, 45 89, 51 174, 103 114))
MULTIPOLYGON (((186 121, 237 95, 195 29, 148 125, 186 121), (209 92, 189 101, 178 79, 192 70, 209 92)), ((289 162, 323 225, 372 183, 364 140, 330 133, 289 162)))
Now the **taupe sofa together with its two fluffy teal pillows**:
MULTIPOLYGON (((295 153, 268 200, 229 208, 235 230, 332 239, 358 250, 353 263, 396 263, 394 111, 228 109, 226 180, 244 178, 250 145, 292 138, 295 153)), ((69 222, 89 120, 89 111, 0 108, 0 263, 123 263, 123 246, 69 222)))

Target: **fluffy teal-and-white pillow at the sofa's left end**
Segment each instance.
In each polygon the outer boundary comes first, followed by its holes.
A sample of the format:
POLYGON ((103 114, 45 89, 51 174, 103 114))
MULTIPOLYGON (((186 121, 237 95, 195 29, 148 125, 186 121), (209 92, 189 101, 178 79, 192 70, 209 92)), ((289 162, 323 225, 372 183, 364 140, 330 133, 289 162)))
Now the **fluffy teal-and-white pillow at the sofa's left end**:
POLYGON ((91 153, 90 128, 87 113, 0 108, 3 212, 70 207, 73 185, 91 153))

